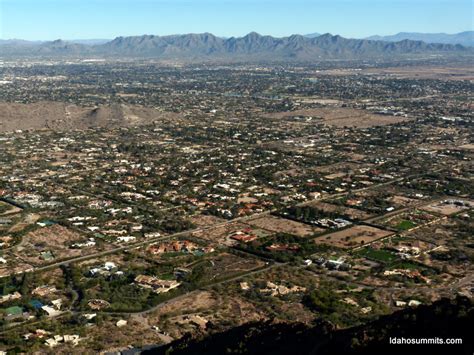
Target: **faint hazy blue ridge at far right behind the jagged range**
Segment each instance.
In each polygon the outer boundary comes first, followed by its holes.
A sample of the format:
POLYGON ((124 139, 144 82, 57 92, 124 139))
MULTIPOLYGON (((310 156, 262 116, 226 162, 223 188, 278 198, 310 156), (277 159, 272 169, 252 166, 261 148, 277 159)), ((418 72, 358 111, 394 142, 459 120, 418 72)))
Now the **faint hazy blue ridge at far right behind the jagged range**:
POLYGON ((474 47, 474 31, 465 31, 455 34, 400 32, 392 36, 371 36, 366 39, 388 42, 398 42, 408 39, 426 43, 461 44, 467 47, 474 47))

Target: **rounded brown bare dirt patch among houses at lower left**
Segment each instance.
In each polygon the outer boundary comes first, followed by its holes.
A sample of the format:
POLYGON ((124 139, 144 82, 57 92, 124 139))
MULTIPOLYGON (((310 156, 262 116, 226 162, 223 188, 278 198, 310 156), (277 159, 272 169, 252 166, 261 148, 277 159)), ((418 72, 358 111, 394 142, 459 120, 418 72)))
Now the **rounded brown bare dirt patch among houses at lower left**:
POLYGON ((26 234, 16 247, 15 255, 28 263, 43 265, 52 260, 76 257, 90 252, 90 249, 69 248, 71 244, 84 240, 80 234, 56 224, 26 234), (42 257, 43 252, 51 252, 53 259, 47 260, 42 257))

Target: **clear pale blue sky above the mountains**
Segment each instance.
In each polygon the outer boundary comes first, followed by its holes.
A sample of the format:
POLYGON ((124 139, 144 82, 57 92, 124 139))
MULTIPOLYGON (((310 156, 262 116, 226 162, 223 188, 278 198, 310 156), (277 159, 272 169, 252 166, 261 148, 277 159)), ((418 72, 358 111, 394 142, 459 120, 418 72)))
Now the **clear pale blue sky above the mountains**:
POLYGON ((473 0, 0 0, 0 38, 472 30, 473 0))

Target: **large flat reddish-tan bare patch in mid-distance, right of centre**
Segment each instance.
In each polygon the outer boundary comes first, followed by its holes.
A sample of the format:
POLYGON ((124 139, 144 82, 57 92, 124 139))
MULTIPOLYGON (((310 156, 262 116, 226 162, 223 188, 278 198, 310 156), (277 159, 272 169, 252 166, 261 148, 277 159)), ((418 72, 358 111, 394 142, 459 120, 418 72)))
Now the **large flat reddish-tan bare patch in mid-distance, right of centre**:
POLYGON ((276 112, 267 115, 268 118, 281 119, 289 116, 322 117, 322 122, 336 127, 367 128, 385 126, 393 123, 406 122, 408 118, 376 115, 364 110, 352 108, 331 107, 297 110, 292 112, 276 112))

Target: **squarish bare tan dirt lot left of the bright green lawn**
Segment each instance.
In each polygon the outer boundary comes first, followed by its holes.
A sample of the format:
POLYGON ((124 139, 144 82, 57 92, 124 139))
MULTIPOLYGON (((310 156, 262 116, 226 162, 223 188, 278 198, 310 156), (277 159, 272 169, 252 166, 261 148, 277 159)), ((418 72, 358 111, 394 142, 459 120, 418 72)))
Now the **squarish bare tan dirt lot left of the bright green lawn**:
POLYGON ((354 226, 315 239, 316 244, 328 244, 338 248, 354 248, 394 234, 370 226, 354 226))

